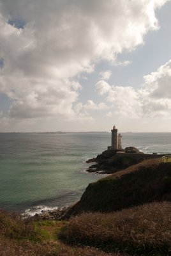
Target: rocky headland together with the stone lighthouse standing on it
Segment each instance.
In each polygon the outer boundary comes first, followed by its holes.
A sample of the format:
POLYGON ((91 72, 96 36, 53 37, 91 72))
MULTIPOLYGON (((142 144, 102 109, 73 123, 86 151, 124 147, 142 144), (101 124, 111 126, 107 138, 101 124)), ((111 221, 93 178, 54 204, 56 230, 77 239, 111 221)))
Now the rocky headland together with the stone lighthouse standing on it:
POLYGON ((135 147, 122 147, 121 134, 117 134, 117 129, 114 125, 111 130, 111 146, 107 147, 107 150, 103 151, 97 157, 87 160, 87 163, 94 163, 87 169, 87 172, 110 174, 123 170, 128 166, 140 163, 145 159, 158 159, 166 156, 166 154, 144 154, 135 147))

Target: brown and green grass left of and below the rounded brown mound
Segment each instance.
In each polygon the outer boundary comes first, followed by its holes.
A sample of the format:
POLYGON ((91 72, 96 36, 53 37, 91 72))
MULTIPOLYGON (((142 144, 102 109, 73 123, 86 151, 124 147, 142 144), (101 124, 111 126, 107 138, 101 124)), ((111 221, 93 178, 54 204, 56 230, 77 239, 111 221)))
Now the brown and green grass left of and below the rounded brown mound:
MULTIPOLYGON (((110 256, 96 248, 85 246, 68 246, 52 237, 63 227, 63 223, 52 225, 52 221, 33 223, 31 220, 22 220, 19 215, 0 211, 0 256, 110 256), (58 225, 59 224, 59 225, 58 225), (40 230, 38 227, 40 226, 40 230), (35 227, 36 230, 35 231, 35 227), (40 232, 38 232, 40 231, 40 232), (42 231, 51 234, 41 237, 42 231)), ((112 254, 113 256, 124 256, 123 254, 112 254)))

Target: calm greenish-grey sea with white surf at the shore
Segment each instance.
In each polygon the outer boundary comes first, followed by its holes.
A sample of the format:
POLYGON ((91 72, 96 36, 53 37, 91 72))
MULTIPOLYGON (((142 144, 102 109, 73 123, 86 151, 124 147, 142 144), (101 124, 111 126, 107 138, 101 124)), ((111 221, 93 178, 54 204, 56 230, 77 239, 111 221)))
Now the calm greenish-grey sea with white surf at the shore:
MULTIPOLYGON (((171 132, 123 132, 123 148, 171 154, 171 132)), ((0 208, 33 216, 67 207, 103 177, 87 159, 111 145, 110 132, 0 133, 0 208)))

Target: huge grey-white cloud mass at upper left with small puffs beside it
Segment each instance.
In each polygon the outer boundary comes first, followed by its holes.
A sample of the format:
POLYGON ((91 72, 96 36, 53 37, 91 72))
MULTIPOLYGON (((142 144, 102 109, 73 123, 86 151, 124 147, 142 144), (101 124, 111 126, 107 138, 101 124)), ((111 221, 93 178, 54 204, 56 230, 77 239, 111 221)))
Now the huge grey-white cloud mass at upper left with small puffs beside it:
MULTIPOLYGON (((159 28, 155 11, 166 2, 0 0, 0 92, 13 99, 9 115, 76 118, 78 74, 143 44, 144 35, 159 28)), ((110 86, 101 81, 96 90, 103 95, 110 86)), ((113 98, 111 91, 108 101, 113 98)))

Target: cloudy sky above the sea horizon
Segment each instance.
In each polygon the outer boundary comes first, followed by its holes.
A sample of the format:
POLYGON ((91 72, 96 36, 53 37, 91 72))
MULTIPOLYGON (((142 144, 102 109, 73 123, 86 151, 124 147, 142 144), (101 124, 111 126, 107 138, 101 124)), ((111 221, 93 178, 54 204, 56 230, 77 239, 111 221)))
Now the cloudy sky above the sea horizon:
POLYGON ((0 132, 171 132, 170 0, 0 0, 0 132))

